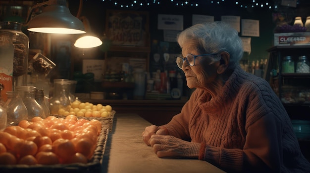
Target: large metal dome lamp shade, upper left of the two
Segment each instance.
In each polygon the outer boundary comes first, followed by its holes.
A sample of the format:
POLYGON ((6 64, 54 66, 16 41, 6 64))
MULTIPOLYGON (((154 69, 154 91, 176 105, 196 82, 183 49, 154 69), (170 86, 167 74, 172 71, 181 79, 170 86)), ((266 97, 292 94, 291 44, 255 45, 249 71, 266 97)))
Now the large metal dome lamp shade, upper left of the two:
POLYGON ((83 34, 83 23, 70 13, 66 0, 49 0, 43 12, 30 20, 28 30, 38 33, 83 34))

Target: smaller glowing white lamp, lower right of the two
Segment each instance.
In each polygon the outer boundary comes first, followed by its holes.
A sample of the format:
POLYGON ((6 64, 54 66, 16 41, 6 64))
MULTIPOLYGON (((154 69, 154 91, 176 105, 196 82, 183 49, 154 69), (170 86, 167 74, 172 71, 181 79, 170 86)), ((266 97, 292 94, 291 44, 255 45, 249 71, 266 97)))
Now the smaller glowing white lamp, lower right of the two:
POLYGON ((85 35, 80 38, 78 38, 74 46, 79 48, 92 48, 92 47, 98 47, 102 45, 103 42, 96 36, 93 35, 85 35))

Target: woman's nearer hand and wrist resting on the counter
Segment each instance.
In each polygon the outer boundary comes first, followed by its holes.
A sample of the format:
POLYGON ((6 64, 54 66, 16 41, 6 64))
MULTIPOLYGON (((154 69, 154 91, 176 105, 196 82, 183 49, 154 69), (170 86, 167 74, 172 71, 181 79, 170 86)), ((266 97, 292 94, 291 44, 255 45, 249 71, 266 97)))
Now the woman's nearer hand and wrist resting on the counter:
POLYGON ((200 143, 189 142, 173 136, 164 135, 152 135, 149 142, 158 157, 186 157, 198 159, 201 146, 200 143))

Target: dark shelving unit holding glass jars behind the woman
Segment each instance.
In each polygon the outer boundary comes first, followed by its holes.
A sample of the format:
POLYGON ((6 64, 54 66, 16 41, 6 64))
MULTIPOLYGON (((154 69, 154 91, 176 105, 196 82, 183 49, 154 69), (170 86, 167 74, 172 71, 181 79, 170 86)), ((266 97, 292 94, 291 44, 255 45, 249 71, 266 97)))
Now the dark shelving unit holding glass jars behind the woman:
POLYGON ((310 65, 304 61, 310 60, 310 45, 274 46, 267 51, 274 92, 292 119, 310 120, 310 65))

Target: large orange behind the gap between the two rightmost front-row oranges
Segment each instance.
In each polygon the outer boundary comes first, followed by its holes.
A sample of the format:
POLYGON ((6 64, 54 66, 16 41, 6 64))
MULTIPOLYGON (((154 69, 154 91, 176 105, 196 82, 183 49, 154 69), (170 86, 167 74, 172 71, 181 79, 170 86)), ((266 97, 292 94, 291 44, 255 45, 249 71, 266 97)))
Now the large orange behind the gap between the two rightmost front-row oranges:
POLYGON ((75 154, 75 147, 69 139, 57 139, 52 144, 53 152, 63 160, 68 160, 75 154))

